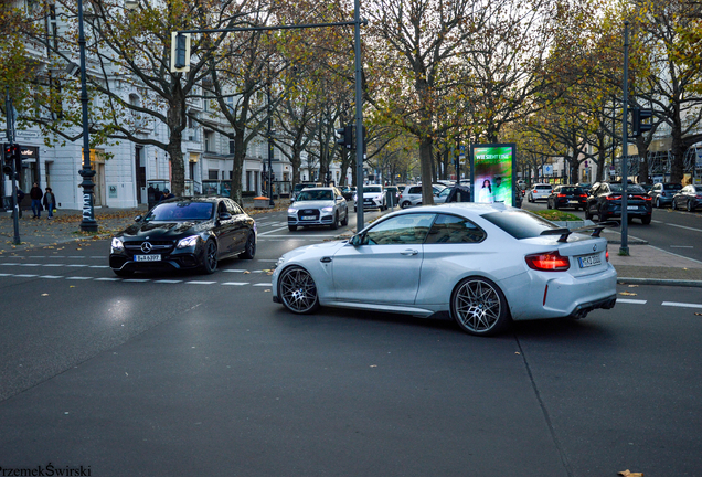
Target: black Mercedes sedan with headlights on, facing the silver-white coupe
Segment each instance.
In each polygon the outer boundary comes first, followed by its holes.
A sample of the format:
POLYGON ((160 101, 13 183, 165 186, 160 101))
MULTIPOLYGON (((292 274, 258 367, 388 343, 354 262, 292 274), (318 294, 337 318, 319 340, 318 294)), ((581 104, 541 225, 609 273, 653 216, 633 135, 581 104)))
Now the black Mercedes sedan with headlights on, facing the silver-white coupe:
POLYGON ((222 258, 256 254, 256 222, 228 198, 170 199, 135 222, 113 237, 109 266, 118 276, 192 268, 211 274, 222 258))

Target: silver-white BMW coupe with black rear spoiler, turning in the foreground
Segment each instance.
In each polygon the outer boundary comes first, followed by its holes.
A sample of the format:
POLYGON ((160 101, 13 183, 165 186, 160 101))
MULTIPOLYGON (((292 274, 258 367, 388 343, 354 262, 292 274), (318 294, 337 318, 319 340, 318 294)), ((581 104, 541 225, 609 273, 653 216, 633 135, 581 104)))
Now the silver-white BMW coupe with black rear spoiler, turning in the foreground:
POLYGON ((295 314, 319 306, 449 312, 479 336, 510 320, 583 318, 614 307, 617 273, 607 241, 598 229, 592 236, 571 234, 502 203, 402 210, 351 240, 283 255, 273 300, 295 314))

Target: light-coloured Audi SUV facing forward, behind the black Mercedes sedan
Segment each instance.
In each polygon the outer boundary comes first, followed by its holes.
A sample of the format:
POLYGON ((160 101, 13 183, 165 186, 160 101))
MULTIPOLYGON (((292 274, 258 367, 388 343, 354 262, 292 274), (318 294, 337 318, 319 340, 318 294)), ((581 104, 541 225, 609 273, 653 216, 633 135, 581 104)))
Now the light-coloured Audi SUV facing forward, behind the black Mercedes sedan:
POLYGON ((332 230, 349 224, 349 206, 339 189, 307 188, 288 209, 288 230, 298 226, 329 225, 332 230))

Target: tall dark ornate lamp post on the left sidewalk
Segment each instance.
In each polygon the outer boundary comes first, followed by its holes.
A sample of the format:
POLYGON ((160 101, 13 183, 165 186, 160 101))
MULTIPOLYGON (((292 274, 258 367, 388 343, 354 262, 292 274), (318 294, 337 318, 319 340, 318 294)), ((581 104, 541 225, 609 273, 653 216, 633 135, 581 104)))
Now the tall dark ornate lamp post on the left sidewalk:
POLYGON ((83 169, 78 174, 83 178, 83 221, 81 230, 83 232, 97 232, 95 221, 95 209, 93 206, 93 195, 95 194, 95 183, 93 176, 95 171, 91 168, 91 138, 88 135, 88 110, 87 110, 87 86, 85 75, 85 33, 83 31, 83 0, 78 0, 78 46, 81 50, 81 105, 83 107, 83 169))

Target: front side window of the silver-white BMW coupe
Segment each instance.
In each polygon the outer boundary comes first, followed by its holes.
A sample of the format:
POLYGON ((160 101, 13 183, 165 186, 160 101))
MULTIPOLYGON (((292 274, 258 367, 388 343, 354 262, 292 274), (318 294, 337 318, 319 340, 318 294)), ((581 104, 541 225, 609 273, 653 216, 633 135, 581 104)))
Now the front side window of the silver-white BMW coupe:
POLYGON ((363 244, 422 244, 429 233, 434 216, 432 213, 415 213, 387 219, 365 233, 363 244))

